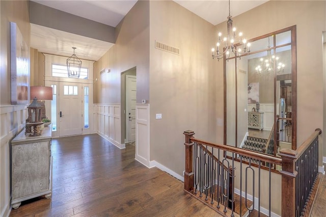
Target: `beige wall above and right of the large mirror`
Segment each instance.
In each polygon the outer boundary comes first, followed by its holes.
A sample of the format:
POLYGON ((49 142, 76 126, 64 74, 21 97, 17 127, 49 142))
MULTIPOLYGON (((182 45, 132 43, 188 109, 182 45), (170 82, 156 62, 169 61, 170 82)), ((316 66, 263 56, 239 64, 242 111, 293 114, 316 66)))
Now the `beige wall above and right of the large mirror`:
MULTIPOLYGON (((297 146, 300 146, 315 128, 323 129, 320 118, 324 109, 323 83, 320 78, 321 35, 326 22, 325 4, 325 1, 269 1, 233 18, 233 24, 243 31, 247 38, 296 25, 297 146), (270 13, 272 11, 273 13, 270 13)), ((226 23, 216 25, 216 30, 226 33, 226 23)))

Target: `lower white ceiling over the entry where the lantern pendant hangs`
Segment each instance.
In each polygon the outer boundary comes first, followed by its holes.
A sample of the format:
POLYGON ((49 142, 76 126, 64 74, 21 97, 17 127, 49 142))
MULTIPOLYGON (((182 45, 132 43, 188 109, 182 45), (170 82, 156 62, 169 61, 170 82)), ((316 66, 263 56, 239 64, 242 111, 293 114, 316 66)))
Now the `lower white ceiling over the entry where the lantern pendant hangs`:
POLYGON ((85 36, 75 35, 31 23, 31 47, 40 52, 70 57, 71 47, 80 59, 99 60, 114 44, 85 36))

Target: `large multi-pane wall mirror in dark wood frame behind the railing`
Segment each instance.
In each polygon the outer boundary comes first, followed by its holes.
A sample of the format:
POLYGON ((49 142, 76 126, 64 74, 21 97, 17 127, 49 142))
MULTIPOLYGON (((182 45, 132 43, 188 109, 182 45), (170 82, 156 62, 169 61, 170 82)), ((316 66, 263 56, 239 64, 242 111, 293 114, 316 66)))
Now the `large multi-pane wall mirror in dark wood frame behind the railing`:
POLYGON ((250 41, 248 55, 224 58, 224 144, 253 136, 273 141, 268 154, 295 150, 296 26, 250 41))

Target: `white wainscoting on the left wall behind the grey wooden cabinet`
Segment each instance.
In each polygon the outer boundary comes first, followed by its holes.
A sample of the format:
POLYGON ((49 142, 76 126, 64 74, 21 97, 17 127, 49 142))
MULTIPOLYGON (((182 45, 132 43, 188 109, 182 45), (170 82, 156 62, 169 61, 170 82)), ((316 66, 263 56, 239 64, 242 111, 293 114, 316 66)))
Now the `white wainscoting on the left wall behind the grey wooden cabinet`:
POLYGON ((27 105, 0 105, 0 216, 9 216, 10 141, 25 126, 27 105))

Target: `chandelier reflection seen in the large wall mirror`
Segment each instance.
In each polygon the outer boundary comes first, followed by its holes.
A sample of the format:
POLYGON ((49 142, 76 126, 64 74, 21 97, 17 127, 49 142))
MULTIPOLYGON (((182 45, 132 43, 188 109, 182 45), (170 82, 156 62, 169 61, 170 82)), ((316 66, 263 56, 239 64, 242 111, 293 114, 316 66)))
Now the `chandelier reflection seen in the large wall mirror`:
MULTIPOLYGON (((270 44, 269 44, 269 37, 268 37, 268 48, 270 48, 270 44)), ((277 72, 284 72, 284 67, 285 65, 283 63, 278 63, 278 60, 280 58, 275 56, 275 55, 271 55, 271 50, 268 49, 267 50, 267 57, 264 58, 260 58, 260 65, 258 65, 255 69, 257 74, 262 74, 264 72, 270 72, 273 70, 273 68, 276 66, 276 71, 277 72)))

